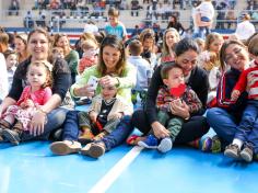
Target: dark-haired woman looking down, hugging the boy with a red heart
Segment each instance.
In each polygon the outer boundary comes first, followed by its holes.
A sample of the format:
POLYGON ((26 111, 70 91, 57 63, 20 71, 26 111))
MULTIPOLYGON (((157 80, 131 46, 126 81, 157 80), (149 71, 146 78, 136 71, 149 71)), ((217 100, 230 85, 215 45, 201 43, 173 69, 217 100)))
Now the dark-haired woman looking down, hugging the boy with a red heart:
MULTIPOLYGON (((181 130, 176 137, 176 144, 192 141, 201 137, 209 129, 206 117, 201 116, 206 110, 209 90, 208 76, 203 69, 197 66, 198 54, 199 48, 197 43, 189 38, 179 41, 175 47, 175 61, 183 67, 186 83, 197 93, 203 106, 196 114, 189 114, 188 106, 179 107, 176 103, 171 103, 172 113, 185 118, 181 130)), ((159 88, 163 86, 161 67, 162 65, 153 73, 144 110, 136 111, 132 115, 132 126, 139 128, 143 134, 148 134, 153 129, 154 135, 160 139, 169 136, 168 130, 157 122, 156 116, 155 101, 159 88)), ((142 139, 139 137, 137 140, 142 139)))

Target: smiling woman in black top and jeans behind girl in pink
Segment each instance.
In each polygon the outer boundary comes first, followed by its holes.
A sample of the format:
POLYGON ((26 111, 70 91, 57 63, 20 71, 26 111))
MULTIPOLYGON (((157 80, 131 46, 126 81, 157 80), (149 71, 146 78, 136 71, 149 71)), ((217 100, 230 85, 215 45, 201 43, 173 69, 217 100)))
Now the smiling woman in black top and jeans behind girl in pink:
MULTIPOLYGON (((42 29, 33 30, 28 34, 27 49, 31 57, 17 66, 12 88, 1 104, 1 114, 5 112, 8 106, 15 104, 21 96, 23 88, 26 86, 26 72, 30 64, 35 60, 47 60, 48 53, 50 53, 47 32, 42 29)), ((64 60, 56 60, 52 68, 52 96, 46 104, 38 107, 38 111, 33 115, 30 133, 22 135, 21 140, 48 139, 50 132, 62 125, 67 110, 58 106, 64 99, 71 80, 70 70, 64 60)))

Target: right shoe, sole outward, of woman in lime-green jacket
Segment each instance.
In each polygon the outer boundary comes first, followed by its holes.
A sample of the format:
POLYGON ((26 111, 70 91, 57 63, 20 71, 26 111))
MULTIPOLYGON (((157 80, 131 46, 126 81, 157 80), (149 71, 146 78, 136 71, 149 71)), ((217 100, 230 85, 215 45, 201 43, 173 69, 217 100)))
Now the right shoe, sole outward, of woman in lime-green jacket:
POLYGON ((105 154, 105 144, 104 143, 91 143, 81 149, 81 154, 84 156, 90 156, 92 158, 99 158, 105 154))

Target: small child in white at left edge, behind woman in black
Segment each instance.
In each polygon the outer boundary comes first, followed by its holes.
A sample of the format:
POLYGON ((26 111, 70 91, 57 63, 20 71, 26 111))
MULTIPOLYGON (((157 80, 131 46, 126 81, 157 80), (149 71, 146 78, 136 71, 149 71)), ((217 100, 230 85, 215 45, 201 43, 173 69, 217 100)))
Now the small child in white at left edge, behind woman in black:
POLYGON ((11 89, 12 86, 12 80, 13 80, 13 75, 16 70, 16 65, 17 65, 17 55, 14 50, 5 50, 3 53, 5 63, 7 63, 7 69, 8 69, 8 83, 9 83, 9 90, 11 89))

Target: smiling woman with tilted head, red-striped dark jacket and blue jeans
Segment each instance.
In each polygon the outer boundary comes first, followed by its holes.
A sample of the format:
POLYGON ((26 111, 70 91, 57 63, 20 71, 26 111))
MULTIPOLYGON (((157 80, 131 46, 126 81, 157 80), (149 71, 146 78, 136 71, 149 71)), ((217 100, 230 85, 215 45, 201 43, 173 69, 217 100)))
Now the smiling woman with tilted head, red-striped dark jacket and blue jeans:
MULTIPOLYGON (((248 55, 245 45, 238 41, 225 42, 221 48, 221 65, 227 65, 230 69, 221 77, 216 94, 218 107, 212 107, 207 112, 207 121, 223 145, 232 143, 247 104, 247 92, 243 92, 237 101, 231 101, 231 93, 241 72, 248 68, 248 55)), ((247 139, 250 144, 257 144, 257 128, 256 122, 247 139)), ((257 154, 258 150, 255 149, 255 152, 257 154)))

